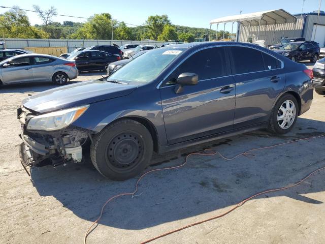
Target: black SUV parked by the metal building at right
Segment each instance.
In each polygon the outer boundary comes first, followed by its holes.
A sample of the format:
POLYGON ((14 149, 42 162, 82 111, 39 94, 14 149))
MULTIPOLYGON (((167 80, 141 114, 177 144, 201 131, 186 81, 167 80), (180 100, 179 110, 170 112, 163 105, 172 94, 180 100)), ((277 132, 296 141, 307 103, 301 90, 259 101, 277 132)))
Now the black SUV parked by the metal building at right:
POLYGON ((310 60, 315 63, 319 56, 319 46, 316 42, 290 42, 283 44, 281 50, 273 50, 287 58, 290 58, 294 62, 302 60, 310 60))

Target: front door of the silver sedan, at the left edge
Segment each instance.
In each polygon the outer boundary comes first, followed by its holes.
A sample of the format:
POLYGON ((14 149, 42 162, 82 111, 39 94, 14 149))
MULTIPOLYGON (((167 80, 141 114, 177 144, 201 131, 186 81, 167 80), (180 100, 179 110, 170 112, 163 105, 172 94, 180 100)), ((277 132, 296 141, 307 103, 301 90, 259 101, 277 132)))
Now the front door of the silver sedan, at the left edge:
POLYGON ((29 57, 18 57, 8 62, 10 66, 2 67, 2 78, 6 84, 33 81, 29 57))

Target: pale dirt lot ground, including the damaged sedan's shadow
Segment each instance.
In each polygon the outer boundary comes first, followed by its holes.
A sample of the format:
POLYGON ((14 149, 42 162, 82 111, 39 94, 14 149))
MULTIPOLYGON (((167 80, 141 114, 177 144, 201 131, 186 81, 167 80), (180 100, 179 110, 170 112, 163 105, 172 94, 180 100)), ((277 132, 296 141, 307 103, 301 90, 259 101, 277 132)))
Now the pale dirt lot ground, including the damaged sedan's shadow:
MULTIPOLYGON (((82 74, 75 81, 100 77, 82 74)), ((31 169, 19 161, 16 108, 28 94, 49 84, 0 90, 1 243, 82 243, 85 231, 107 198, 132 191, 136 178, 115 182, 90 164, 31 169)), ((325 134, 325 97, 314 94, 311 109, 292 132, 274 136, 256 131, 155 156, 149 169, 175 166, 191 151, 212 148, 225 156, 298 138, 325 134)), ((225 161, 193 156, 177 170, 149 174, 138 196, 114 200, 87 243, 139 243, 195 221, 218 215, 262 190, 292 184, 325 166, 325 137, 257 151, 255 158, 225 161)), ((152 243, 325 243, 325 171, 302 185, 253 199, 231 214, 152 243)))

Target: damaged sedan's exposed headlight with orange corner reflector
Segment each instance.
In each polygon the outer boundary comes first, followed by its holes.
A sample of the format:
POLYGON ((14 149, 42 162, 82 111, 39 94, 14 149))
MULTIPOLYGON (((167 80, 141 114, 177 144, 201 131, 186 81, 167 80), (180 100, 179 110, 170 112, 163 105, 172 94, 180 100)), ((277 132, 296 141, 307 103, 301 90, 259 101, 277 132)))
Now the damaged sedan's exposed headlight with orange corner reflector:
POLYGON ((64 109, 32 117, 27 124, 27 130, 55 131, 69 126, 79 118, 89 105, 64 109))

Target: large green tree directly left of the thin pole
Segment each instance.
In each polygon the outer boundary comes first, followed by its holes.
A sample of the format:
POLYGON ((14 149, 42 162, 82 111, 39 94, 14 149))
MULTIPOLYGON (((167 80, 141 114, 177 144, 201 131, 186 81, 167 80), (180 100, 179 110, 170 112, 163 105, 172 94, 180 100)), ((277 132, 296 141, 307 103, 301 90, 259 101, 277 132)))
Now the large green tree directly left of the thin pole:
POLYGON ((111 15, 109 13, 95 14, 76 33, 72 34, 71 38, 112 40, 111 15))

